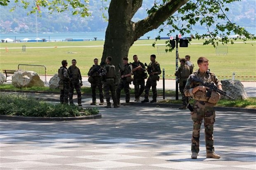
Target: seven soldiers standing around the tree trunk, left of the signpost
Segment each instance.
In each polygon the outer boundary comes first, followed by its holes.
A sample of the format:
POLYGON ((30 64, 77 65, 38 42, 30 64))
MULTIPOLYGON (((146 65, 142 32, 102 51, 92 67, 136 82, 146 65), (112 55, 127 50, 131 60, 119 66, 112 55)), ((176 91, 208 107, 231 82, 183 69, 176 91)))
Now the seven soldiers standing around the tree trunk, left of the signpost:
MULTIPOLYGON (((116 68, 111 64, 112 57, 107 57, 105 62, 100 63, 97 58, 94 59, 94 65, 88 72, 88 82, 91 84, 92 89, 92 103, 90 105, 96 105, 96 88, 99 90, 100 103, 104 105, 104 96, 106 98, 106 108, 111 108, 110 98, 112 97, 114 108, 121 105, 129 105, 130 103, 130 84, 133 82, 135 88, 135 100, 140 101, 140 95, 145 91, 145 99, 141 102, 149 102, 149 90, 152 88, 153 96, 151 103, 156 102, 157 91, 156 82, 159 81, 159 75, 161 74, 161 68, 156 61, 156 55, 150 56, 150 63, 147 68, 143 63, 138 60, 138 56, 133 56, 133 63, 128 63, 128 58, 122 58, 122 65, 119 65, 120 81, 116 84, 117 74, 116 68), (145 79, 147 79, 145 86, 145 79), (117 86, 116 86, 117 85, 117 86), (126 102, 120 103, 121 90, 124 89, 126 94, 126 102), (104 91, 104 93, 103 93, 104 91), (110 96, 111 93, 111 96, 110 96)), ((59 88, 60 102, 67 104, 68 102, 73 105, 73 91, 76 89, 78 97, 78 106, 81 104, 81 86, 82 77, 78 67, 76 67, 76 60, 72 60, 72 65, 66 68, 68 65, 66 60, 62 61, 62 67, 59 68, 59 88)))

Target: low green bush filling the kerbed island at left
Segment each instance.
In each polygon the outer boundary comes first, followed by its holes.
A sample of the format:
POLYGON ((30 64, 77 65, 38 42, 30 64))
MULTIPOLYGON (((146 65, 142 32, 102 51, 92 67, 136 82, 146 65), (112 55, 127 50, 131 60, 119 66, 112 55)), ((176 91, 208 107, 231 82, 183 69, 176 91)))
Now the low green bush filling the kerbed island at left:
POLYGON ((72 105, 53 105, 26 95, 0 94, 0 114, 32 117, 73 117, 98 114, 97 108, 83 109, 72 105))

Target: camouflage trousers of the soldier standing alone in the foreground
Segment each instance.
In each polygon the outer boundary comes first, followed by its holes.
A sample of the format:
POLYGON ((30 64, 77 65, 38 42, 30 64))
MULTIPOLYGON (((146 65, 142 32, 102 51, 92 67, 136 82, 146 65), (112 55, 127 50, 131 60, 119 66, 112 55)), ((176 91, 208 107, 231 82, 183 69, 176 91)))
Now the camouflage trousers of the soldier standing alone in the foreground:
POLYGON ((200 128, 204 119, 206 153, 213 153, 213 124, 215 122, 215 110, 213 109, 213 104, 195 100, 194 112, 191 112, 191 119, 194 121, 191 151, 196 153, 199 152, 200 128))

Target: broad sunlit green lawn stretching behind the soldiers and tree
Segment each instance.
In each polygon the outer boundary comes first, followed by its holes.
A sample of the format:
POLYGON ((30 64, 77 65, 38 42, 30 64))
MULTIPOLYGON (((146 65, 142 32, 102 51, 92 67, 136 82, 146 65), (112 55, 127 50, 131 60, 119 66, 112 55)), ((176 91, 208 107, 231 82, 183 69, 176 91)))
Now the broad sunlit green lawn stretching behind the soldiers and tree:
MULTIPOLYGON (((166 78, 174 78, 175 72, 175 51, 165 53, 164 46, 160 46, 161 53, 157 53, 157 47, 152 47, 154 40, 139 40, 135 45, 148 44, 147 46, 135 46, 130 48, 128 57, 132 62, 132 56, 137 54, 142 63, 149 63, 150 54, 156 54, 156 61, 160 63, 161 69, 165 68, 166 78)), ((179 48, 180 57, 189 54, 191 61, 197 69, 197 58, 205 56, 209 59, 209 68, 211 72, 216 73, 220 79, 231 79, 232 73, 235 72, 236 79, 256 81, 256 43, 235 43, 228 44, 228 55, 216 55, 213 46, 195 44, 203 42, 194 40, 189 44, 188 48, 179 48), (245 77, 247 76, 247 78, 245 77), (249 77, 252 76, 252 77, 249 77)), ((165 40, 157 41, 157 44, 164 44, 165 40)), ((38 42, 38 43, 0 43, 0 70, 17 69, 18 64, 45 65, 47 74, 53 75, 57 72, 63 59, 77 60, 77 66, 81 70, 82 75, 87 75, 89 68, 93 64, 94 58, 101 58, 103 52, 103 41, 90 42, 38 42), (11 49, 13 47, 52 47, 52 48, 36 48, 26 49, 25 53, 21 49, 11 49), (93 46, 100 45, 102 47, 74 47, 74 46, 93 46), (72 46, 72 47, 66 47, 72 46), (5 47, 9 49, 6 52, 5 47), (54 48, 57 47, 57 48, 54 48), (61 48, 66 47, 66 48, 61 48), (74 52, 74 53, 70 53, 74 52)), ((156 44, 156 45, 157 45, 156 44)))

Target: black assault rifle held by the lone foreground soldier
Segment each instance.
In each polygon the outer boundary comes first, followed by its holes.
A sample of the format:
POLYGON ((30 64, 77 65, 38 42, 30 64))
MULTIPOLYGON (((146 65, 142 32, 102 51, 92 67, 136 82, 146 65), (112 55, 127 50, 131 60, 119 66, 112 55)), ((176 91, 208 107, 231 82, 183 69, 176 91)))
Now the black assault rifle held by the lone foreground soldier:
POLYGON ((234 98, 232 98, 231 96, 227 95, 227 93, 225 91, 222 91, 220 89, 218 89, 217 86, 214 85, 213 82, 209 83, 209 82, 203 82, 201 79, 198 79, 197 77, 194 76, 190 76, 190 79, 192 79, 195 82, 200 82, 203 86, 207 87, 207 93, 206 93, 206 97, 211 97, 211 92, 215 91, 217 93, 220 93, 221 95, 225 95, 228 98, 231 98, 233 100, 235 100, 234 98))

